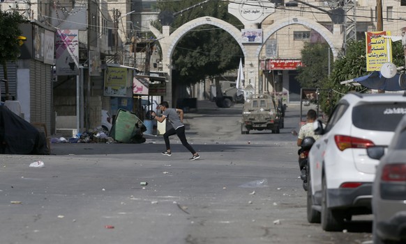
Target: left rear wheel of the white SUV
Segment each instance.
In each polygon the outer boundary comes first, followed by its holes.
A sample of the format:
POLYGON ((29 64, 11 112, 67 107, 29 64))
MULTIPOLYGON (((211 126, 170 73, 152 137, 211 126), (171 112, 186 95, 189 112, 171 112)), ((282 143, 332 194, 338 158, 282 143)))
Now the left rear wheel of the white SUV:
POLYGON ((342 231, 344 217, 340 211, 327 207, 326 177, 322 181, 322 229, 325 231, 342 231))

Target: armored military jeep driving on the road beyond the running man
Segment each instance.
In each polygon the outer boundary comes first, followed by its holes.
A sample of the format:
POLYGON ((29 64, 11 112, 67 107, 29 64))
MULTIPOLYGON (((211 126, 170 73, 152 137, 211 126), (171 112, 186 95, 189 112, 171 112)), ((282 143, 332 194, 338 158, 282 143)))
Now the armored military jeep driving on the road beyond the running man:
POLYGON ((241 134, 248 134, 250 130, 262 131, 269 129, 272 133, 279 133, 281 126, 280 111, 272 95, 253 94, 243 105, 243 119, 241 134))

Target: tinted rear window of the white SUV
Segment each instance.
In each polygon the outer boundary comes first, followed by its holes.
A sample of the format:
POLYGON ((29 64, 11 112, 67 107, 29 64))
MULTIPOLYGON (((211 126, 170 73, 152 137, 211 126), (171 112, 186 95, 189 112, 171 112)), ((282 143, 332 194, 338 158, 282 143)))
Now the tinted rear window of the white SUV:
POLYGON ((355 127, 372 131, 395 131, 406 114, 406 103, 362 104, 352 110, 355 127))

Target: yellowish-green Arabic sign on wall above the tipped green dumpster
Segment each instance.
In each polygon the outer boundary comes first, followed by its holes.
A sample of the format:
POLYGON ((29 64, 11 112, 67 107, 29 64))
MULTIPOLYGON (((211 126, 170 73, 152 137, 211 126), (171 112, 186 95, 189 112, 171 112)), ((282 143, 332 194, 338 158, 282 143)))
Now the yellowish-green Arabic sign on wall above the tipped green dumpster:
POLYGON ((105 96, 127 96, 127 69, 125 67, 107 67, 105 70, 105 96))

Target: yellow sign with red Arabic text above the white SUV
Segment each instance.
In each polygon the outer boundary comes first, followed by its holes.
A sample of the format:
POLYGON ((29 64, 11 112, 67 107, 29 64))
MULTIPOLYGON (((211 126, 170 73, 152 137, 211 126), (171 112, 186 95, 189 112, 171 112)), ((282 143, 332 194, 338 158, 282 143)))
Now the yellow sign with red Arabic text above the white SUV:
POLYGON ((379 71, 384 63, 392 60, 392 43, 384 35, 391 31, 366 32, 366 70, 379 71))

